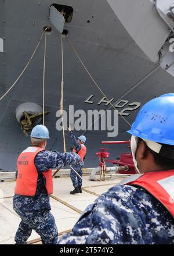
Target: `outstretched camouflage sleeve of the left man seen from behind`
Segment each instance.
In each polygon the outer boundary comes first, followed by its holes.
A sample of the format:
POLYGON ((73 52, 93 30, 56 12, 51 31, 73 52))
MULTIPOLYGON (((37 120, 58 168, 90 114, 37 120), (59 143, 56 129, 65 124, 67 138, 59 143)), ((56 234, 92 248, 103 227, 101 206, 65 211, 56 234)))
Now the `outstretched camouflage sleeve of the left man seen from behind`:
POLYGON ((79 155, 74 152, 59 153, 57 151, 41 151, 35 157, 35 166, 38 172, 49 169, 63 168, 80 161, 79 155))

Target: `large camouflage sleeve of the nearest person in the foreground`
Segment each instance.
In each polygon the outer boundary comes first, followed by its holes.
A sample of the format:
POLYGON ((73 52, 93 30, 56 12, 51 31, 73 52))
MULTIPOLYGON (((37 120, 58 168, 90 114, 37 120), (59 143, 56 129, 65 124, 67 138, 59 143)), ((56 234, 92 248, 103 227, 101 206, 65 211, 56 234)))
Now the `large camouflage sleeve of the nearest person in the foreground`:
MULTIPOLYGON (((115 192, 115 191, 113 191, 115 192)), ((104 193, 90 205, 59 244, 143 243, 133 212, 117 194, 104 193)))

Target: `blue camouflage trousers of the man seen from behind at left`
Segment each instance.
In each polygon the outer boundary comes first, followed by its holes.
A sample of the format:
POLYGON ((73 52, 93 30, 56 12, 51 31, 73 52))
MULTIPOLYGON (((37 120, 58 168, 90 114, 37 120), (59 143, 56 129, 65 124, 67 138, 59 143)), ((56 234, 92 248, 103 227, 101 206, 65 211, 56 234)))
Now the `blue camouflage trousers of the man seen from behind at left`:
POLYGON ((19 228, 14 237, 17 244, 25 244, 31 235, 32 229, 41 236, 42 244, 57 244, 58 232, 55 218, 49 209, 32 212, 16 212, 21 218, 19 228))

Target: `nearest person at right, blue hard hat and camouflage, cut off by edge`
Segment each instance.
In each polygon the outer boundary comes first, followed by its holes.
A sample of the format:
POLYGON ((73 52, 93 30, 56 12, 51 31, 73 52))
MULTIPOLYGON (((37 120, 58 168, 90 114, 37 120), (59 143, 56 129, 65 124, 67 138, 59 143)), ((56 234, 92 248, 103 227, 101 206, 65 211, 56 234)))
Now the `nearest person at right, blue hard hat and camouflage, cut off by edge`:
POLYGON ((143 106, 129 131, 138 174, 100 195, 59 244, 174 244, 173 112, 174 94, 143 106))

